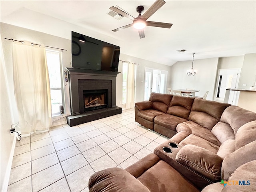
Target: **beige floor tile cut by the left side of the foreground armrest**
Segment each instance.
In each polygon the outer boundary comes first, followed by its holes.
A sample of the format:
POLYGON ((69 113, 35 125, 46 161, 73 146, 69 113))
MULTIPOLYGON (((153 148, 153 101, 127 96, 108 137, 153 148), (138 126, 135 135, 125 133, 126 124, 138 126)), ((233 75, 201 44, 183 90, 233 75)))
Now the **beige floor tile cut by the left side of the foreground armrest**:
POLYGON ((71 191, 81 191, 88 186, 90 176, 94 170, 88 164, 72 174, 66 176, 71 191))

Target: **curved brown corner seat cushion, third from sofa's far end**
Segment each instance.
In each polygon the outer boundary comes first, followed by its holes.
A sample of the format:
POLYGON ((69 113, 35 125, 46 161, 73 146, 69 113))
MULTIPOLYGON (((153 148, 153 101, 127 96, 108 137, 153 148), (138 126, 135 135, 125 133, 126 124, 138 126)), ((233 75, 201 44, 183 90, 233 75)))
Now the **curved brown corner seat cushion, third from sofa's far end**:
POLYGON ((177 129, 177 132, 186 131, 190 134, 194 134, 198 137, 201 137, 217 146, 221 145, 219 140, 212 134, 212 132, 209 129, 202 127, 195 122, 192 122, 192 121, 183 122, 181 124, 178 124, 176 129, 177 129))

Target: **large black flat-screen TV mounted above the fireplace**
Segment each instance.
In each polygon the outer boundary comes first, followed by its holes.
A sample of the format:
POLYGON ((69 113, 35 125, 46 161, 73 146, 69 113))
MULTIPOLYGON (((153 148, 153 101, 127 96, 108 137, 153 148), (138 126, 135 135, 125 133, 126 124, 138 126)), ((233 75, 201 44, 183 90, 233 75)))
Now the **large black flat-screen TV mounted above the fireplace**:
POLYGON ((117 72, 119 46, 73 31, 71 34, 73 68, 117 72))

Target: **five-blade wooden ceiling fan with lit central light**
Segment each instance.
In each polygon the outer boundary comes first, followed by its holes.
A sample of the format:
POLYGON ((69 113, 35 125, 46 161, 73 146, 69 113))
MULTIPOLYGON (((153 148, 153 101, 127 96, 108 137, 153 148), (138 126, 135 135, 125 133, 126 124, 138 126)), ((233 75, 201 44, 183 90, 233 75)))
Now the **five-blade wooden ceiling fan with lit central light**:
POLYGON ((144 6, 138 6, 136 8, 136 11, 139 13, 139 16, 136 17, 136 18, 134 18, 130 14, 128 14, 128 13, 126 13, 126 12, 124 12, 124 11, 114 7, 114 6, 110 7, 109 8, 110 10, 115 11, 118 14, 129 18, 130 20, 133 20, 132 24, 129 24, 129 25, 126 25, 126 26, 122 26, 122 27, 114 29, 112 31, 116 32, 116 31, 119 31, 121 29, 125 29, 125 28, 133 26, 134 28, 138 29, 140 38, 144 38, 145 37, 145 33, 144 33, 143 29, 144 29, 145 26, 171 28, 171 26, 172 26, 171 23, 161 23, 161 22, 147 21, 147 19, 150 16, 152 16, 152 14, 154 14, 164 4, 165 4, 164 0, 156 0, 156 2, 154 2, 154 4, 152 4, 152 6, 150 6, 150 8, 143 15, 141 15, 141 13, 144 10, 144 6))

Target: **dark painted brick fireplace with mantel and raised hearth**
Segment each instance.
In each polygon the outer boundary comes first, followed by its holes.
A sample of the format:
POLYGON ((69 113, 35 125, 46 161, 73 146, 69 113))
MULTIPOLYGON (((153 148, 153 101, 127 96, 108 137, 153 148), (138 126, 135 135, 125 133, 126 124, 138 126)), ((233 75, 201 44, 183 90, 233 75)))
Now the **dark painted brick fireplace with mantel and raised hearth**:
POLYGON ((68 71, 71 116, 69 126, 122 113, 116 106, 116 76, 119 72, 65 68, 68 71))

